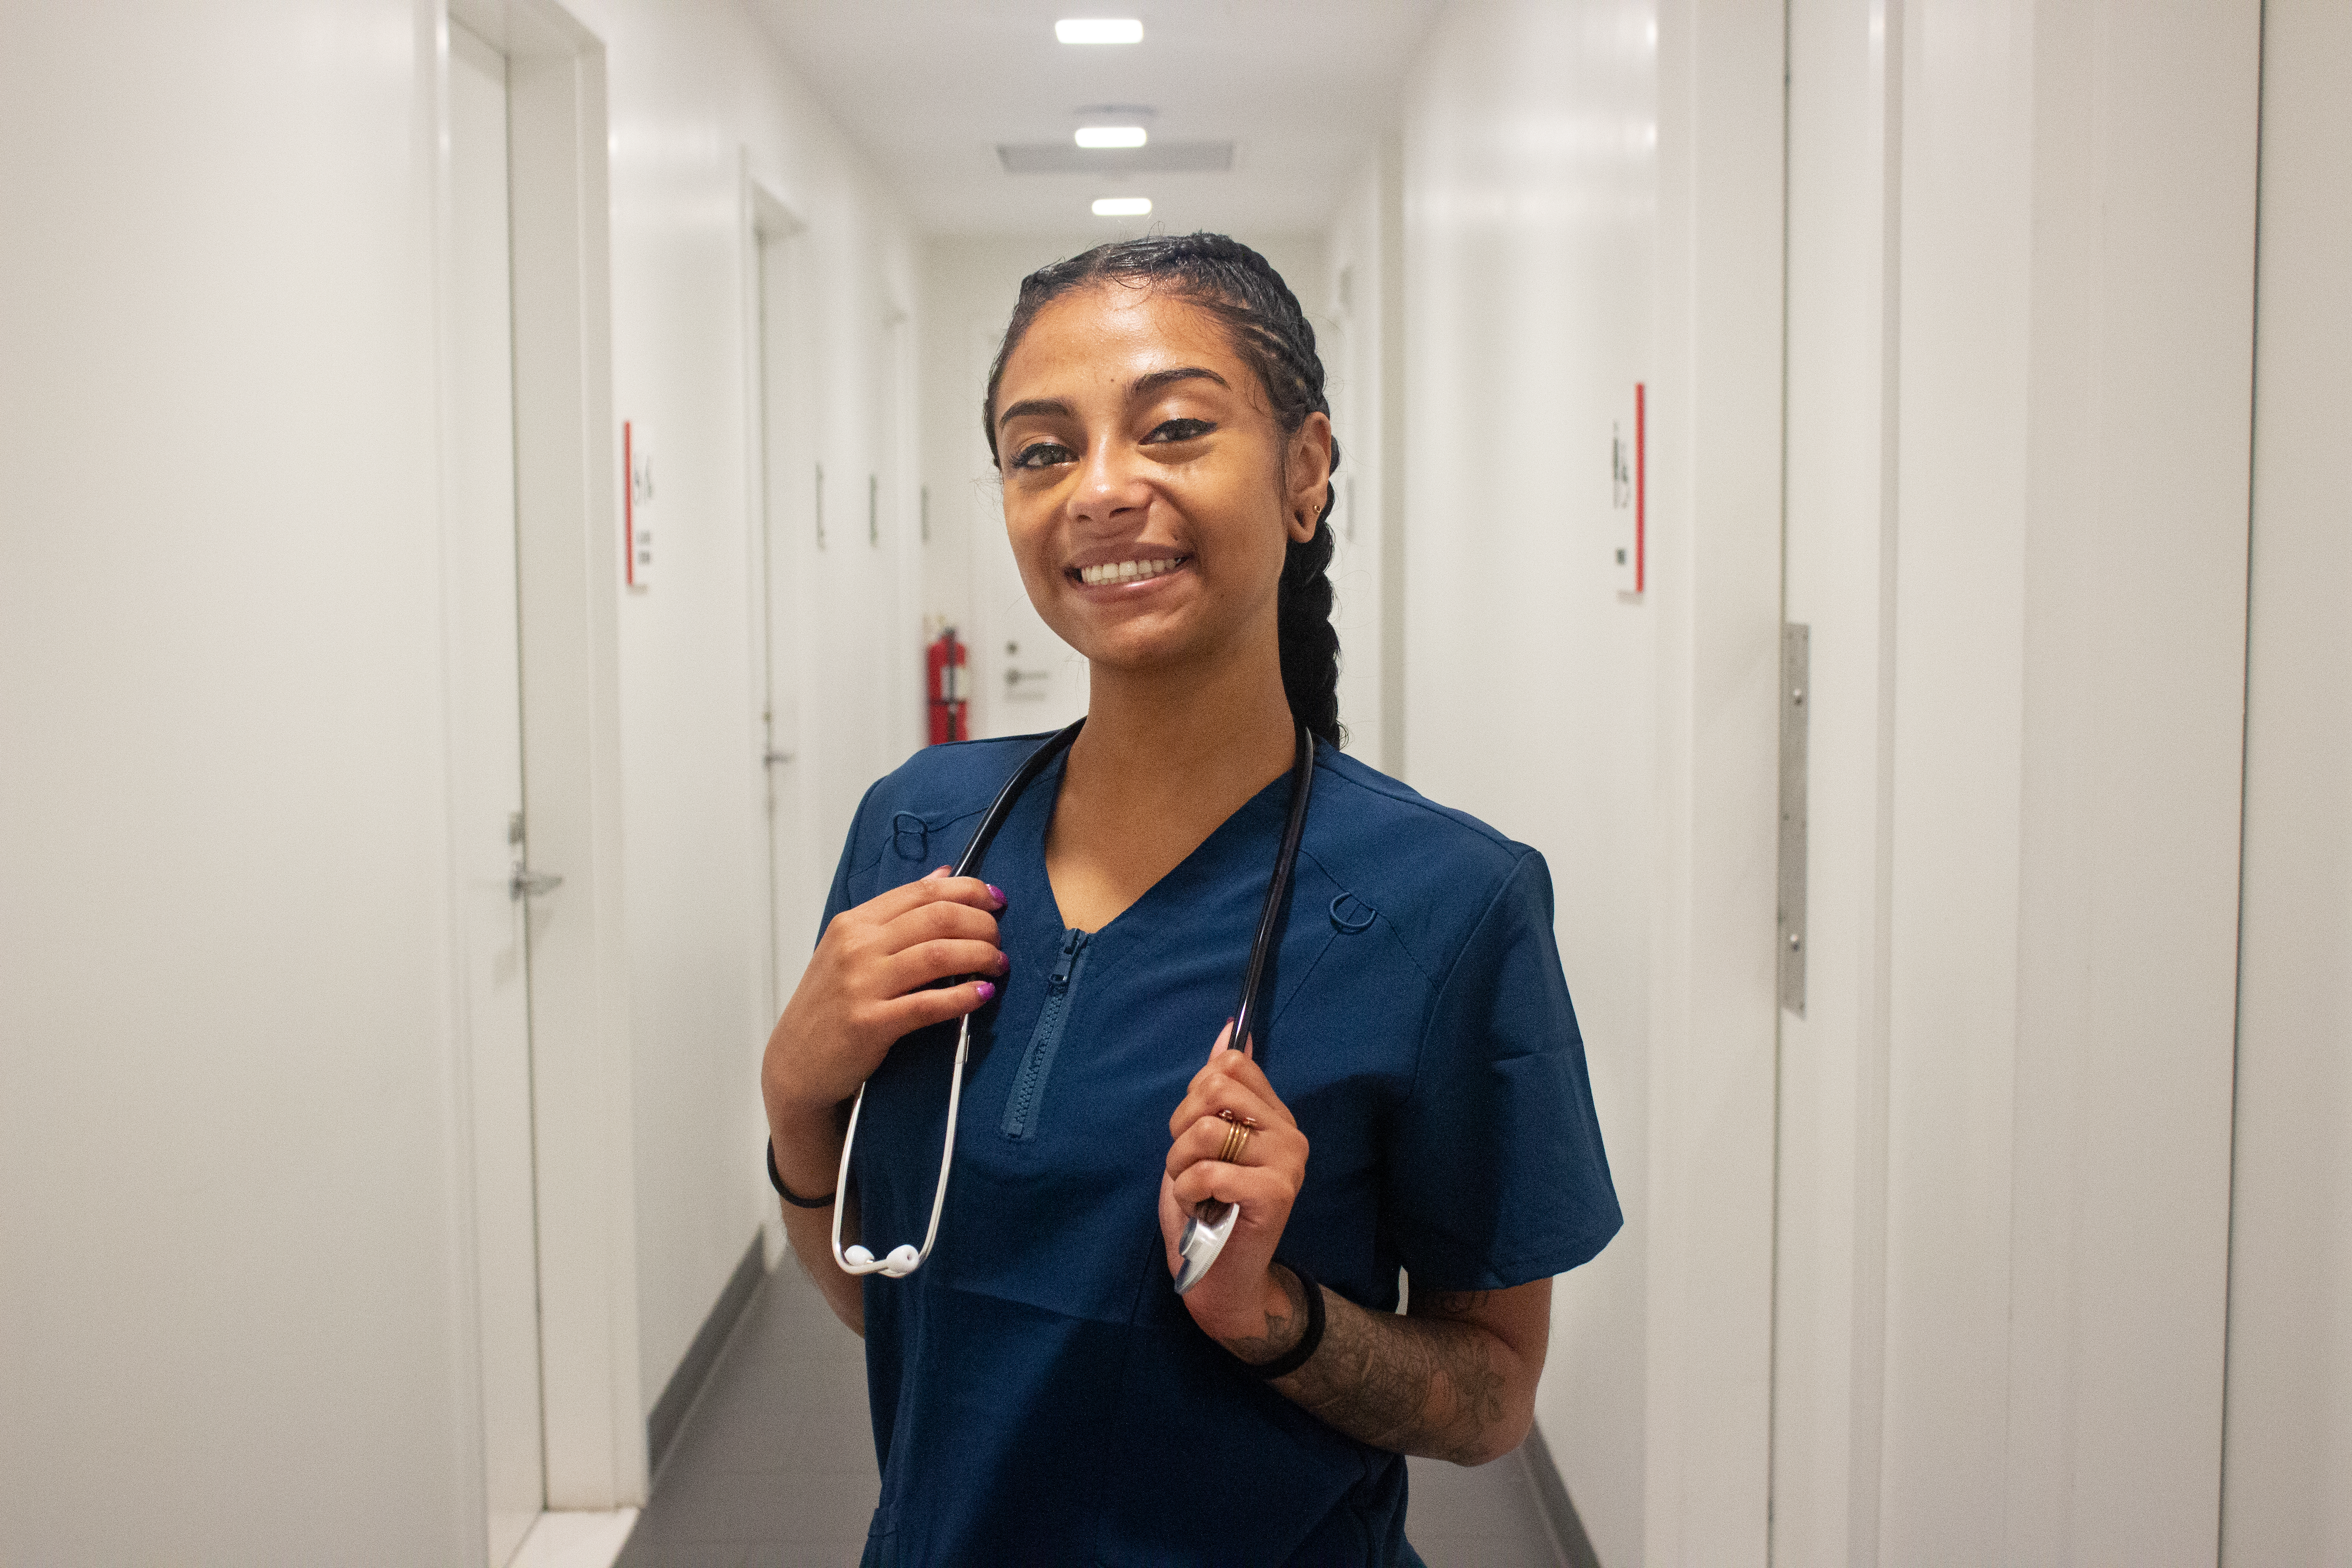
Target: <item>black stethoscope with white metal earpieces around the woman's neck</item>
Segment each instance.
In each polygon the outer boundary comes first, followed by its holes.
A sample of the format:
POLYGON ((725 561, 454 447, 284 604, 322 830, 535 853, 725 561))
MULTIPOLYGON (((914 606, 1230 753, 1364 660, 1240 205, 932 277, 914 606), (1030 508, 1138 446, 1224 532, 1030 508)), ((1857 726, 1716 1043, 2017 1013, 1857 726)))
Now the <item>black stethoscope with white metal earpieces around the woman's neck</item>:
MULTIPOLYGON (((971 844, 964 849, 964 858, 955 863, 957 877, 971 877, 981 870, 981 856, 988 853, 988 842, 997 837, 997 827, 1011 816, 1014 802, 1021 790, 1028 788, 1037 773, 1047 769, 1054 757, 1070 750, 1070 741, 1087 722, 1080 719, 1063 731, 1056 731, 1044 745, 1030 752, 1014 776, 1004 780, 997 790, 997 799, 988 806, 988 816, 981 818, 978 832, 971 835, 971 844)), ((1291 816, 1282 825, 1282 853, 1275 856, 1275 875, 1265 884, 1265 907, 1258 910, 1258 933, 1249 943, 1249 969, 1242 973, 1242 1001, 1232 1009, 1232 1034, 1230 1039, 1240 1046, 1251 1037, 1251 1027, 1258 1020, 1261 992, 1265 990, 1265 959, 1275 950, 1275 938, 1282 931, 1282 912, 1289 905, 1291 891, 1291 867, 1298 865, 1298 837, 1308 825, 1308 795, 1315 788, 1315 736, 1308 726, 1298 726, 1298 755, 1291 762, 1291 816)), ((842 1171, 835 1180, 835 1192, 840 1201, 833 1206, 833 1262, 842 1267, 844 1274, 882 1274, 884 1279, 906 1279, 922 1267, 922 1260, 931 1255, 931 1244, 938 1239, 938 1213, 948 1206, 948 1171, 955 1161, 955 1114, 964 1100, 964 1060, 971 1056, 971 1013, 964 1013, 964 1023, 955 1034, 955 1067, 948 1077, 948 1138, 938 1150, 938 1187, 931 1192, 931 1225, 922 1232, 922 1248, 913 1244, 894 1246, 882 1258, 875 1258, 863 1244, 842 1248, 842 1211, 849 1208, 849 1152, 858 1147, 858 1112, 866 1110, 866 1086, 858 1084, 858 1098, 849 1107, 849 1128, 842 1135, 842 1171)), ((1265 1063, 1265 1041, 1256 1044, 1256 1060, 1265 1063)), ((1232 1234, 1232 1222, 1240 1218, 1235 1204, 1218 1204, 1216 1199, 1204 1199, 1200 1208, 1183 1222, 1183 1237, 1176 1244, 1183 1255, 1183 1267, 1176 1272, 1176 1293, 1183 1295, 1202 1281, 1216 1255, 1225 1251, 1225 1239, 1232 1234)))

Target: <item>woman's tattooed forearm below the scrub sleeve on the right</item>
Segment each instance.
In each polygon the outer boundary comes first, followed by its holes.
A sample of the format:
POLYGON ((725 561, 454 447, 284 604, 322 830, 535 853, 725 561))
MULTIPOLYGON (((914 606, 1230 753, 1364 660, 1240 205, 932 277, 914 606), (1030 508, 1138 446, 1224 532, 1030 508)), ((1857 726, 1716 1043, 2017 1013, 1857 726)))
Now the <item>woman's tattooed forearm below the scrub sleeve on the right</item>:
MULTIPOLYGON (((1298 1342, 1305 1302, 1289 1269, 1282 1274, 1291 1309, 1268 1312, 1263 1338, 1232 1345, 1244 1361, 1272 1361, 1298 1342)), ((1275 1387, 1364 1443, 1463 1465, 1484 1460, 1508 1415, 1501 1356, 1510 1354, 1463 1321, 1484 1302, 1484 1291, 1416 1293, 1414 1316, 1395 1316, 1327 1293, 1322 1347, 1275 1387)))

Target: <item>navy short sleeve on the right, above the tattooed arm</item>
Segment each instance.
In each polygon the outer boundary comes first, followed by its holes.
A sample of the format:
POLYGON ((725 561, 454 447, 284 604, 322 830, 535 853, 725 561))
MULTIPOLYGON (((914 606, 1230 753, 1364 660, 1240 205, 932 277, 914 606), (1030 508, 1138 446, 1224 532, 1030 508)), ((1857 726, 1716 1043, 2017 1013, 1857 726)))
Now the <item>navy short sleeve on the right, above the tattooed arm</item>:
POLYGON ((1536 851, 1439 985, 1385 1182, 1397 1255, 1425 1288, 1548 1279, 1623 1225, 1536 851))

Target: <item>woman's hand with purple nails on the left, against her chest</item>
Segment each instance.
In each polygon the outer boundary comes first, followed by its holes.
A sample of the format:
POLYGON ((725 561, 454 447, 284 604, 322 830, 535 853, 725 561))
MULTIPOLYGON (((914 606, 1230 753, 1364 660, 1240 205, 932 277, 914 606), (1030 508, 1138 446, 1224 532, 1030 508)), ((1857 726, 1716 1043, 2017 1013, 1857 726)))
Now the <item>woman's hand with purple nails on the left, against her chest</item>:
POLYGON ((903 1037, 962 1018, 997 994, 995 980, 934 990, 948 976, 1011 969, 997 947, 1004 893, 941 865, 854 910, 842 910, 816 943, 800 987, 767 1037, 760 1088, 769 1119, 830 1112, 858 1091, 903 1037))

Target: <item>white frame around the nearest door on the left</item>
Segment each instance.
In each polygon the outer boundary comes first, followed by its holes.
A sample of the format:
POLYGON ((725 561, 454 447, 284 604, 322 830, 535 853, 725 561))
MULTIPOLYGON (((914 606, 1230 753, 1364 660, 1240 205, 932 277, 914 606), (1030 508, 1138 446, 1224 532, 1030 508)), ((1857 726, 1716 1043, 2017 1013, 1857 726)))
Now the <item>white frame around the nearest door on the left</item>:
MULTIPOLYGON (((442 538, 454 529, 449 317, 449 21, 508 56, 515 273, 515 536, 524 820, 532 860, 564 886, 532 917, 532 1164, 539 1190, 539 1359, 548 1509, 644 1502, 628 950, 621 905, 621 656, 604 47, 553 0, 421 0, 433 33, 442 538)), ((445 611, 447 618, 447 611, 445 611)), ((445 679, 463 679, 447 656, 445 679)), ((454 778, 452 778, 454 783, 454 778)), ((452 929, 452 964, 461 961, 452 929)), ((461 1366, 480 1408, 470 1258, 470 1041, 452 1086, 461 1366)), ((480 1429, 461 1441, 482 1512, 480 1429)))

